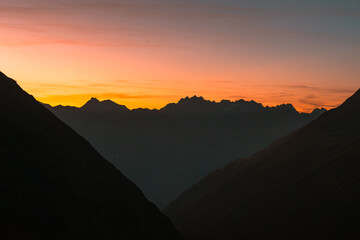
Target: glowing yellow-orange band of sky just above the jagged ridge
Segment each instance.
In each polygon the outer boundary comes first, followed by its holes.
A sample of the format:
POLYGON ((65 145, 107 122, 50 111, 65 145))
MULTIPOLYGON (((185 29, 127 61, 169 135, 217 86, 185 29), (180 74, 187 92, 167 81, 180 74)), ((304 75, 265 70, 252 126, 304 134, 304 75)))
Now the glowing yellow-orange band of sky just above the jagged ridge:
MULTIPOLYGON (((21 82, 21 81, 20 81, 21 82)), ((122 82, 122 81, 120 81, 122 82)), ((20 83, 21 84, 21 83, 20 83)), ((127 94, 127 93, 116 93, 115 92, 96 92, 96 90, 90 90, 92 93, 88 93, 87 89, 81 86, 67 86, 67 85, 47 85, 44 84, 43 88, 34 88, 31 84, 21 84, 25 90, 30 94, 33 94, 38 101, 50 104, 52 106, 57 105, 68 105, 81 107, 84 105, 90 98, 95 97, 99 100, 112 100, 118 104, 126 105, 130 109, 135 108, 149 108, 149 109, 160 109, 168 103, 173 103, 179 101, 181 98, 186 96, 203 96, 206 100, 219 102, 221 100, 231 100, 236 101, 239 99, 244 99, 246 101, 254 100, 258 103, 263 104, 264 106, 277 106, 280 104, 292 104, 299 112, 311 112, 315 108, 326 108, 331 109, 340 105, 344 100, 352 95, 354 90, 348 89, 322 89, 309 86, 287 86, 287 85, 275 85, 275 86, 248 86, 247 91, 243 91, 241 94, 237 94, 236 88, 234 91, 229 91, 226 93, 216 93, 211 91, 206 91, 202 89, 201 91, 174 91, 174 95, 166 95, 162 91, 153 91, 159 95, 150 95, 150 94, 127 94), (77 89, 74 94, 48 94, 53 92, 53 89, 59 90, 60 93, 68 92, 71 89, 77 89), (81 89, 81 91, 79 91, 81 89), (80 93, 79 93, 80 92, 80 93), (182 93, 183 92, 183 93, 182 93), (306 94, 304 93, 306 92, 306 94), (315 96, 318 94, 318 97, 315 96), (323 95, 322 95, 323 94, 323 95), (305 96, 305 98, 303 97, 305 96), (317 98, 316 102, 314 98, 317 98)), ((145 84, 146 85, 146 84, 145 84)), ((231 83, 228 83, 231 87, 231 83)), ((116 87, 116 84, 114 85, 116 87)), ((89 88, 113 88, 111 84, 99 85, 93 84, 89 88)), ((148 87, 149 88, 149 87, 148 87)), ((151 88, 149 88, 151 89, 151 88)), ((171 87, 169 87, 171 89, 171 87)), ((218 88, 216 88, 218 89, 218 88)), ((242 88, 245 89, 244 87, 242 88)), ((104 89, 103 89, 104 90, 104 89)), ((56 91, 55 91, 56 92, 56 91)), ((129 91, 131 92, 131 91, 129 91)), ((144 91, 145 93, 146 91, 144 91)), ((150 92, 150 91, 149 91, 150 92)), ((165 91, 166 92, 166 91, 165 91)))

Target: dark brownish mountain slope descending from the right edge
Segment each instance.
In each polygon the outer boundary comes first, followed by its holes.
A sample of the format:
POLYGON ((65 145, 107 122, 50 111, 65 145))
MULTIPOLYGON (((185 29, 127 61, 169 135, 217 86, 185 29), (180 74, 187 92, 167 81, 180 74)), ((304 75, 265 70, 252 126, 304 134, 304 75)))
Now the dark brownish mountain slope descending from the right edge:
POLYGON ((360 239, 360 90, 164 212, 187 239, 360 239))

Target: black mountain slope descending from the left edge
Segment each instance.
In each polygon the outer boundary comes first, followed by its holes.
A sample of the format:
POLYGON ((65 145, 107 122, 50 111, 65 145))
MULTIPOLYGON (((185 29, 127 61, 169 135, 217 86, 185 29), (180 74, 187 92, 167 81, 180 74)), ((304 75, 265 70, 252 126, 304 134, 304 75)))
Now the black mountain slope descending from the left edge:
POLYGON ((182 239, 91 145, 0 73, 0 239, 182 239))

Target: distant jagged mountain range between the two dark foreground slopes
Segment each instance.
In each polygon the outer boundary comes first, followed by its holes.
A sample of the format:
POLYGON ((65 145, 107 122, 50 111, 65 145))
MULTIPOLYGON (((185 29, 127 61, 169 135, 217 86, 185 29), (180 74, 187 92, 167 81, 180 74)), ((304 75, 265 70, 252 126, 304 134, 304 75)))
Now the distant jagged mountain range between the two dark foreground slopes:
MULTIPOLYGON (((100 104, 92 99, 85 106, 100 104)), ((49 109, 160 208, 209 172, 261 150, 323 112, 300 114, 291 104, 264 107, 197 96, 160 110, 93 111, 85 106, 49 109)))

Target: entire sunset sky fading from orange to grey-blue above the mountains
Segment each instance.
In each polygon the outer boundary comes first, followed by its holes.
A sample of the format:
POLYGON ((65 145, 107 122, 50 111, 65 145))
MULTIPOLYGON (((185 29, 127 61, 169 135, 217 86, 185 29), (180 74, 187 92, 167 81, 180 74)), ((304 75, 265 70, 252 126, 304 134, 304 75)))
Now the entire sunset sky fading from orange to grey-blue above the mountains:
POLYGON ((0 0, 0 71, 51 105, 309 112, 355 92, 359 66, 359 0, 0 0))

